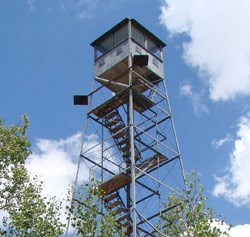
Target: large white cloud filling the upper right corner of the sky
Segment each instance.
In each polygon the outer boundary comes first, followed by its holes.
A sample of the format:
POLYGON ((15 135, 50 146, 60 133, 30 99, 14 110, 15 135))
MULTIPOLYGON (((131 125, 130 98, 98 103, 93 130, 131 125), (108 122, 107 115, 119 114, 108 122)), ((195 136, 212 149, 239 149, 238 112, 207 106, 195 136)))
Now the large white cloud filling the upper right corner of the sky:
POLYGON ((160 21, 185 34, 184 58, 202 72, 212 100, 250 95, 250 2, 165 0, 160 21))

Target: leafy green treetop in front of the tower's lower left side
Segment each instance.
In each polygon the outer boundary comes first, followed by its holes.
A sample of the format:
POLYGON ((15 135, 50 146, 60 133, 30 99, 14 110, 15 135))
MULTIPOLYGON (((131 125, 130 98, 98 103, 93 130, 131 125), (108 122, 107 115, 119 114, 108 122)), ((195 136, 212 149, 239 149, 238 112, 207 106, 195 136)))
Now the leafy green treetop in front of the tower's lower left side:
POLYGON ((103 193, 97 186, 95 182, 91 182, 91 185, 84 183, 78 187, 77 198, 69 208, 71 225, 76 230, 75 236, 125 236, 114 214, 102 205, 103 193))

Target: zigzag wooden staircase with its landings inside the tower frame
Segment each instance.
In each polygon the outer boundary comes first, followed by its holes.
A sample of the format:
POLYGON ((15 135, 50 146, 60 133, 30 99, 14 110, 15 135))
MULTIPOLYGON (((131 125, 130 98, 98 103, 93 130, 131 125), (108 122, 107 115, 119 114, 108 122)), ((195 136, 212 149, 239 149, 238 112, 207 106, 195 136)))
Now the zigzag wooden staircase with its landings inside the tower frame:
MULTIPOLYGON (((113 212, 119 228, 124 228, 126 236, 130 236, 132 232, 130 208, 126 207, 120 197, 119 192, 127 192, 128 186, 131 184, 131 176, 129 165, 131 163, 131 144, 129 137, 129 127, 124 123, 119 114, 119 107, 128 104, 129 91, 127 89, 117 93, 110 100, 99 105, 89 112, 89 115, 95 115, 101 119, 104 127, 109 131, 113 141, 115 142, 121 157, 128 165, 126 171, 114 175, 111 179, 104 181, 99 185, 99 189, 105 193, 103 197, 105 207, 113 212)), ((138 91, 133 91, 134 109, 143 113, 154 106, 154 103, 146 96, 138 91)), ((162 154, 155 154, 152 157, 142 161, 139 149, 135 146, 135 162, 136 162, 136 177, 144 175, 145 172, 150 172, 157 165, 166 162, 167 158, 162 154)))

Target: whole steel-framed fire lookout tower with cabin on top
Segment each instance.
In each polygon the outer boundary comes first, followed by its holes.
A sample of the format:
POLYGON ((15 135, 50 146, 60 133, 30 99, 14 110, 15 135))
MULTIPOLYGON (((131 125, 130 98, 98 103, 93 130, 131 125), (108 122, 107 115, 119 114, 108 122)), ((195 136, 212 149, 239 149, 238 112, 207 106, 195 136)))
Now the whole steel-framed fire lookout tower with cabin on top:
MULTIPOLYGON (((165 236, 159 219, 184 173, 164 80, 164 42, 134 19, 94 48, 94 83, 79 158, 126 236, 165 236), (85 166, 86 167, 86 166, 85 166)), ((75 98, 77 100, 77 98, 75 98)), ((77 103, 77 102, 75 102, 77 103)))

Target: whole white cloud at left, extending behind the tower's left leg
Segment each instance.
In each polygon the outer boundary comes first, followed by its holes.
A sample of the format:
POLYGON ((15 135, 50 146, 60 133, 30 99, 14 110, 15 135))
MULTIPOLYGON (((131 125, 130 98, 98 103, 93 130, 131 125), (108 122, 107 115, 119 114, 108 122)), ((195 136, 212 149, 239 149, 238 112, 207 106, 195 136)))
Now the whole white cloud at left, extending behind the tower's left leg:
MULTIPOLYGON (((59 140, 37 139, 26 167, 32 175, 38 175, 44 182, 43 194, 45 196, 66 198, 70 185, 75 181, 81 143, 81 133, 59 140)), ((101 164, 102 146, 98 136, 87 135, 84 144, 82 153, 92 161, 101 164)), ((108 148, 110 144, 105 142, 104 147, 108 148)), ((104 167, 112 172, 118 172, 119 167, 113 164, 116 157, 112 148, 104 152, 104 157, 104 167)), ((79 182, 88 180, 90 168, 94 169, 92 163, 84 162, 84 159, 82 161, 78 176, 79 182)))

